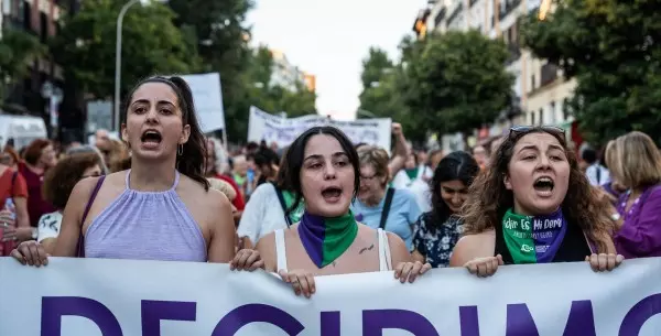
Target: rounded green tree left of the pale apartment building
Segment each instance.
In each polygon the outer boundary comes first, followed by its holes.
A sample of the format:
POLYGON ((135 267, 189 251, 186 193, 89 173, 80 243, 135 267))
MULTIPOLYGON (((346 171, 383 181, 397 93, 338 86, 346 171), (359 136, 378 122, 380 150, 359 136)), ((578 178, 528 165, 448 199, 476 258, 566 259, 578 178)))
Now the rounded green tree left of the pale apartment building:
POLYGON ((509 53, 478 31, 430 35, 411 51, 407 106, 420 126, 438 133, 470 132, 511 102, 509 53))

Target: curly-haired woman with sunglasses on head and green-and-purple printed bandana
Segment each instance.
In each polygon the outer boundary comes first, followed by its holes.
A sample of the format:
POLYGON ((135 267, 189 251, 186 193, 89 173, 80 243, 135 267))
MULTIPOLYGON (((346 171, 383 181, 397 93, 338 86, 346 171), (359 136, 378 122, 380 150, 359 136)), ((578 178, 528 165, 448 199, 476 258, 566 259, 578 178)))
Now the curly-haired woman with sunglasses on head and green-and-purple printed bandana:
POLYGON ((470 187, 451 267, 489 277, 502 264, 588 261, 610 271, 621 263, 610 214, 564 134, 555 127, 510 130, 470 187))

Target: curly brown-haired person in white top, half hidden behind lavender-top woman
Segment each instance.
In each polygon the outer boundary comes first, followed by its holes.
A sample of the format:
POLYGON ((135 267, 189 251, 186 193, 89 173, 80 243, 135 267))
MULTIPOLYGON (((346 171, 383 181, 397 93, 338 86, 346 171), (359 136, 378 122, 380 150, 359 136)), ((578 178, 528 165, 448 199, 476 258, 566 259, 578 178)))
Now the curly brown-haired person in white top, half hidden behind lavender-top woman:
POLYGON ((78 181, 104 175, 104 162, 97 152, 75 153, 59 160, 46 172, 42 194, 44 199, 57 208, 56 212, 41 216, 37 224, 36 241, 46 253, 53 253, 55 240, 59 235, 62 212, 78 181))

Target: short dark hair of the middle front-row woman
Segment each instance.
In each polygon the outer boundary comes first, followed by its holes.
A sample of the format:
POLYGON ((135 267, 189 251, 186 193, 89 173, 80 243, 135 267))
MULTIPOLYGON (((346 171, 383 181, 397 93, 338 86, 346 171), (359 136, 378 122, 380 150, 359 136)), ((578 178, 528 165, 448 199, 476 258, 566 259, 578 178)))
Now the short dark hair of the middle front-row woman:
POLYGON ((303 132, 286 150, 283 155, 283 162, 285 162, 284 166, 284 178, 283 183, 285 186, 290 188, 291 192, 294 193, 295 198, 292 206, 288 209, 290 213, 292 209, 295 209, 301 204, 303 199, 303 187, 301 185, 301 167, 303 166, 303 161, 305 160, 305 147, 307 145, 307 141, 314 136, 317 134, 326 134, 335 138, 343 151, 349 158, 349 162, 354 167, 354 198, 358 195, 358 189, 360 188, 360 164, 358 162, 358 153, 354 145, 351 144, 351 140, 339 129, 336 129, 332 126, 317 126, 313 127, 305 132, 303 132))

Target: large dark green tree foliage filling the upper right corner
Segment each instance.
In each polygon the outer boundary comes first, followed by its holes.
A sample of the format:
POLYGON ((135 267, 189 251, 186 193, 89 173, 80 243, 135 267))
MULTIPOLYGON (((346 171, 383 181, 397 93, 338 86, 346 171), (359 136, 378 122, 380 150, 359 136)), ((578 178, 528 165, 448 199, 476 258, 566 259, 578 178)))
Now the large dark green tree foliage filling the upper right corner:
POLYGON ((565 0, 530 15, 524 44, 577 79, 570 111, 594 144, 631 130, 661 144, 661 1, 565 0))

